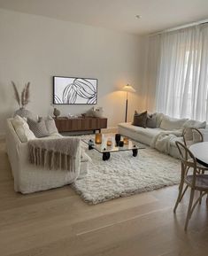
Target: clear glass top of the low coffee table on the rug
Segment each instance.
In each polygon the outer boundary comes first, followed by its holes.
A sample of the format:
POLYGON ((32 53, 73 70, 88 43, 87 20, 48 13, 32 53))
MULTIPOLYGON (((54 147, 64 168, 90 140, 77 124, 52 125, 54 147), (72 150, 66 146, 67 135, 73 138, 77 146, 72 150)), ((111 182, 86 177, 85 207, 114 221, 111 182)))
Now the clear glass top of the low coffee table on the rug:
MULTIPOLYGON (((124 138, 127 138, 126 136, 121 136, 120 140, 124 141, 124 138)), ((107 135, 104 134, 102 137, 102 144, 96 144, 95 143, 95 137, 92 139, 82 139, 82 141, 91 147, 91 149, 95 149, 96 151, 99 151, 100 153, 104 152, 116 152, 116 151, 132 151, 132 150, 140 150, 145 149, 143 144, 140 144, 138 142, 135 142, 131 140, 130 138, 127 138, 127 144, 124 144, 123 146, 117 146, 115 142, 115 135, 107 135), (111 141, 112 145, 107 145, 107 142, 111 141)))

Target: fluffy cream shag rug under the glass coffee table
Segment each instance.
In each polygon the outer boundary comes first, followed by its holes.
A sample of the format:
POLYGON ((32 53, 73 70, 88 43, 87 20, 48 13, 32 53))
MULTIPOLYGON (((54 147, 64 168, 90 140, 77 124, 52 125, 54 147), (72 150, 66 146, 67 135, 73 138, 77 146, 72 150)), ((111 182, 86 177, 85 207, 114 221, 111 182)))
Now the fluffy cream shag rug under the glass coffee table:
POLYGON ((96 205, 180 182, 180 161, 148 146, 138 150, 137 157, 132 156, 132 151, 114 152, 107 161, 103 161, 101 153, 89 151, 87 144, 84 146, 92 159, 89 174, 74 182, 72 187, 89 204, 96 205))

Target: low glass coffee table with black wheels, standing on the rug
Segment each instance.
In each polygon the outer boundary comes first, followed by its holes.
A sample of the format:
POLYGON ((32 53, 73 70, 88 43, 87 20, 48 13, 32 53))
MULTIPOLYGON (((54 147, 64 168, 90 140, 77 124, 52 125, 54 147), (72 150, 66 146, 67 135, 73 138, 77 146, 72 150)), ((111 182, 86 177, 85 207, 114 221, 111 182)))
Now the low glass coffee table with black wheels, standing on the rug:
MULTIPOLYGON (((121 140, 122 140, 122 136, 121 136, 121 140)), ((113 152, 132 151, 133 156, 136 157, 138 154, 138 150, 145 149, 143 144, 132 141, 130 138, 128 138, 128 144, 124 144, 122 147, 116 146, 115 135, 104 134, 102 144, 95 144, 95 139, 91 139, 91 140, 83 139, 82 141, 85 144, 89 145, 89 150, 96 150, 99 153, 102 153, 104 161, 110 159, 111 153, 113 152), (112 138, 112 146, 107 146, 107 140, 110 137, 112 138)))

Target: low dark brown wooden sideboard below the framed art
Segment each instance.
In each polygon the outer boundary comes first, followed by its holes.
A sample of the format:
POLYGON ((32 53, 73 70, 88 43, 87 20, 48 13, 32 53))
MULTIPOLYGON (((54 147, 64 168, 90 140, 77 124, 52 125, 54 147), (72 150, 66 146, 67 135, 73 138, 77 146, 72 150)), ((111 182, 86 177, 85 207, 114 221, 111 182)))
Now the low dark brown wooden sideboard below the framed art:
POLYGON ((101 130, 101 128, 107 128, 106 118, 96 117, 78 117, 78 118, 67 118, 59 117, 54 119, 58 132, 80 132, 80 131, 93 131, 101 130))

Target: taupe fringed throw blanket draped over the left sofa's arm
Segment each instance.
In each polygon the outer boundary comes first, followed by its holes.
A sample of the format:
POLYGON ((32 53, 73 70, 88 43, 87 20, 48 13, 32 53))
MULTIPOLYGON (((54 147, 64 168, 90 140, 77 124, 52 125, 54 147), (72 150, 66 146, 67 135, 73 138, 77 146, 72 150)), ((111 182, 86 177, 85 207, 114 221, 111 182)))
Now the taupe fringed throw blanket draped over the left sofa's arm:
POLYGON ((29 141, 28 146, 32 164, 75 172, 75 159, 81 147, 80 139, 37 139, 29 141))

